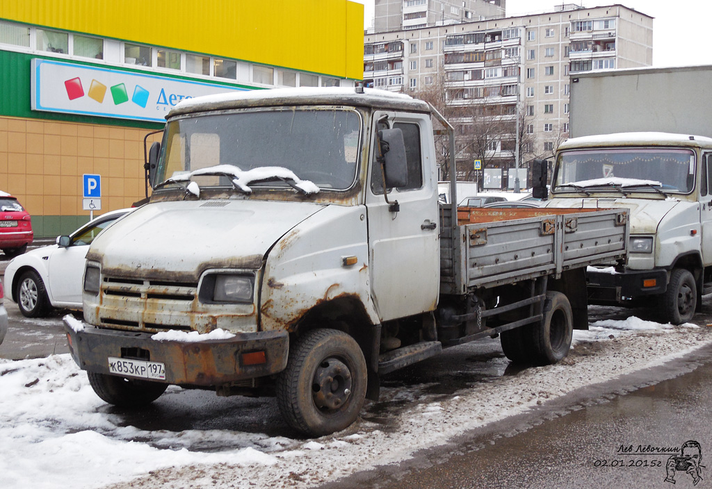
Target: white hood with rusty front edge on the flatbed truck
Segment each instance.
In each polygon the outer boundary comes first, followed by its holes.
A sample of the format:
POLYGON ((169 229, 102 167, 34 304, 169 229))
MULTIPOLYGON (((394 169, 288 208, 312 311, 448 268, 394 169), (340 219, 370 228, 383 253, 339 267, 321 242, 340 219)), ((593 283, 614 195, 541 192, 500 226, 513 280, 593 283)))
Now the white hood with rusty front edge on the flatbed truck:
POLYGON ((145 205, 92 243, 104 274, 197 283, 211 268, 258 269, 269 249, 325 205, 192 200, 145 205))

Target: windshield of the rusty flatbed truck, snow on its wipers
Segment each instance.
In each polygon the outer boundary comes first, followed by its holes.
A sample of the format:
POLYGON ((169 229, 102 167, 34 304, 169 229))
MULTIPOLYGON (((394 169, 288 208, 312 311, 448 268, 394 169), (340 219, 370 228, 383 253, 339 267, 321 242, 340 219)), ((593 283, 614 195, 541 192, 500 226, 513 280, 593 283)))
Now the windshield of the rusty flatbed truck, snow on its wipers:
POLYGON ((361 127, 358 112, 315 107, 174 119, 164 133, 154 184, 345 190, 356 180, 361 127))

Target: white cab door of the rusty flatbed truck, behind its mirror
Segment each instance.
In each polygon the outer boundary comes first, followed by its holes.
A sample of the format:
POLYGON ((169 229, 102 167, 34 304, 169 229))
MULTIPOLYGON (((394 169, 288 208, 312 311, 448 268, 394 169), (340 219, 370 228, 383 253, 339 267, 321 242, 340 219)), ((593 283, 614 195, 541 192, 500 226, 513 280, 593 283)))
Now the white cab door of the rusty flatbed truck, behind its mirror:
POLYGON ((432 311, 437 305, 438 193, 429 118, 381 112, 376 114, 372 129, 366 190, 370 287, 379 317, 387 321, 432 311), (381 168, 375 158, 377 130, 388 128, 402 130, 408 161, 408 183, 388 191, 389 200, 398 202, 397 212, 389 210, 384 199, 381 168))

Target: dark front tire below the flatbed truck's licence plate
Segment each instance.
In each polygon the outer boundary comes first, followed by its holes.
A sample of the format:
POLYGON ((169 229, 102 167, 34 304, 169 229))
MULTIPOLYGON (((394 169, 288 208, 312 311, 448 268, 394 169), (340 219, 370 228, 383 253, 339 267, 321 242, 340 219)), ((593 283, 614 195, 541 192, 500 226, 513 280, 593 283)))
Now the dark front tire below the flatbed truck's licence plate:
POLYGON ((89 385, 109 404, 119 407, 142 407, 161 397, 167 384, 146 380, 127 379, 115 375, 87 372, 89 385))

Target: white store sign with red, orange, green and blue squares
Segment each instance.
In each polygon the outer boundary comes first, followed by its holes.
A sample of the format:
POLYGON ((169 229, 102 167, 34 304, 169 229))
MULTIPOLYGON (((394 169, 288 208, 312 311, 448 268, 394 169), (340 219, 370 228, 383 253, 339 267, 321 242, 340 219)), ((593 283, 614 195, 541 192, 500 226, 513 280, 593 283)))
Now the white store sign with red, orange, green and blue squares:
POLYGON ((248 89, 32 60, 33 110, 165 122, 181 100, 243 90, 248 89))

